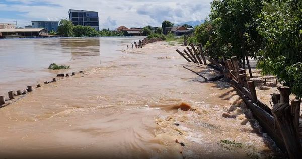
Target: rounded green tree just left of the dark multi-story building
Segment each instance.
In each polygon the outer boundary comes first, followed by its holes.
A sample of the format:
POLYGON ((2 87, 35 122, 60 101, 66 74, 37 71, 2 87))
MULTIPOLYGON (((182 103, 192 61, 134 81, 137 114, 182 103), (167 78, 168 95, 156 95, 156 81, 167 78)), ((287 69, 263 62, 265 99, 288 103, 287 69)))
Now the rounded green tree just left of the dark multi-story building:
POLYGON ((68 19, 61 19, 58 27, 58 34, 64 37, 72 37, 73 33, 73 24, 68 19))

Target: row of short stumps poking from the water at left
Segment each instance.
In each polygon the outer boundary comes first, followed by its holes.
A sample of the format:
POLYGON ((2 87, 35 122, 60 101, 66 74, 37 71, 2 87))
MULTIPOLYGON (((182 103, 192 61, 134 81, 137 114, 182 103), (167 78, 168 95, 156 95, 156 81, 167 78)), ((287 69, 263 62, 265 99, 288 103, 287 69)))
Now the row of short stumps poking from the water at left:
MULTIPOLYGON (((80 71, 79 73, 83 73, 83 71, 80 71)), ((72 72, 72 76, 74 76, 74 75, 75 75, 75 72, 72 72)), ((65 76, 65 74, 57 74, 57 77, 64 77, 64 76, 65 76)), ((66 77, 69 77, 68 73, 66 73, 66 77)), ((57 81, 57 79, 53 78, 52 81, 45 81, 44 84, 50 84, 50 83, 56 82, 56 81, 57 81)), ((41 87, 40 84, 36 85, 36 88, 40 88, 40 87, 41 87)), ((33 91, 33 86, 27 86, 27 89, 24 89, 24 90, 17 90, 16 93, 14 91, 9 91, 7 100, 5 99, 4 95, 0 95, 0 107, 6 106, 7 105, 6 101, 15 99, 15 96, 25 95, 28 92, 32 92, 32 91, 33 91)))

